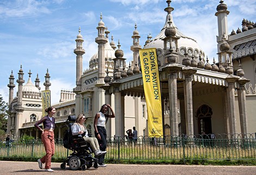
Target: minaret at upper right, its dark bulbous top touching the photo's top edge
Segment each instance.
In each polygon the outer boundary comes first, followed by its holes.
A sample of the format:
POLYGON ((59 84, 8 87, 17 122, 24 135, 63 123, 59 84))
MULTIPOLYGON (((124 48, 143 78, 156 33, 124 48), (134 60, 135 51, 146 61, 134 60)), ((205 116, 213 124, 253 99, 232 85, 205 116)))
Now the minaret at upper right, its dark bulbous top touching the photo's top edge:
MULTIPOLYGON (((229 11, 227 10, 228 7, 226 4, 223 4, 223 1, 220 1, 220 4, 218 4, 215 13, 215 16, 218 18, 218 36, 217 36, 217 42, 222 41, 223 34, 228 34, 228 20, 227 16, 229 14, 229 11)), ((227 38, 227 36, 225 36, 227 38)))

